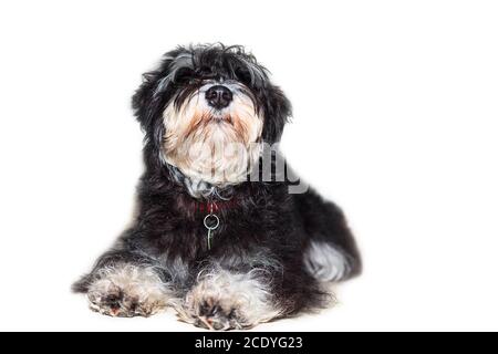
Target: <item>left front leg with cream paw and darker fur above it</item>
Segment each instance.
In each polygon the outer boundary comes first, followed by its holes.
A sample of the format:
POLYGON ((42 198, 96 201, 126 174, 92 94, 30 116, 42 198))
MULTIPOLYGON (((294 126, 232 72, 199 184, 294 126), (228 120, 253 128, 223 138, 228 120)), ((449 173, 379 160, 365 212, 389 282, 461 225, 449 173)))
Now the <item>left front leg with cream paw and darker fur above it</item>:
POLYGON ((87 295, 90 308, 111 316, 149 316, 170 305, 176 294, 164 269, 144 257, 108 252, 73 285, 87 295))

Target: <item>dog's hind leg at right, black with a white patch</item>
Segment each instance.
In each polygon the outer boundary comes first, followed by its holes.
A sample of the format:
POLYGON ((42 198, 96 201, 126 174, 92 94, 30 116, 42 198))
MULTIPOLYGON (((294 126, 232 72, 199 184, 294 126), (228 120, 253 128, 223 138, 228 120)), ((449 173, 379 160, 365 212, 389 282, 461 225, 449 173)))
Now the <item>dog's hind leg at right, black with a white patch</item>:
POLYGON ((343 212, 313 190, 294 197, 309 237, 307 271, 322 282, 342 281, 361 272, 361 258, 343 212))

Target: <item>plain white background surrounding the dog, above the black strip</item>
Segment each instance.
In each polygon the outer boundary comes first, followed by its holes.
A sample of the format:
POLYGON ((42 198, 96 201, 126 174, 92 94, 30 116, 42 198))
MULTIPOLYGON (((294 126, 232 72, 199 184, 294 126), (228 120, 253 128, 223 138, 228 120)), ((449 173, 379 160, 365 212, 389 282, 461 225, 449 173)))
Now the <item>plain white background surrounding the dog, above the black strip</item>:
POLYGON ((252 50, 294 106, 283 152, 349 216, 364 274, 262 331, 498 330, 494 1, 2 1, 0 330, 110 319, 71 283, 129 220, 129 97, 177 44, 252 50))

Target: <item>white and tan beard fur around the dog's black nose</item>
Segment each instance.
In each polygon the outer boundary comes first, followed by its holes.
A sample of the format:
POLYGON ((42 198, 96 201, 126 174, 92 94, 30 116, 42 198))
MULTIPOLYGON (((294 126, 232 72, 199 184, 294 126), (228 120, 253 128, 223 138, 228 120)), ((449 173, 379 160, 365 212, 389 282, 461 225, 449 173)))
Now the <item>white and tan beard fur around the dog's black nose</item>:
POLYGON ((162 157, 188 177, 191 186, 225 188, 246 181, 258 163, 263 122, 237 84, 226 84, 234 101, 215 112, 204 98, 211 85, 200 87, 178 108, 174 104, 166 107, 162 157), (232 123, 224 122, 226 117, 232 123))

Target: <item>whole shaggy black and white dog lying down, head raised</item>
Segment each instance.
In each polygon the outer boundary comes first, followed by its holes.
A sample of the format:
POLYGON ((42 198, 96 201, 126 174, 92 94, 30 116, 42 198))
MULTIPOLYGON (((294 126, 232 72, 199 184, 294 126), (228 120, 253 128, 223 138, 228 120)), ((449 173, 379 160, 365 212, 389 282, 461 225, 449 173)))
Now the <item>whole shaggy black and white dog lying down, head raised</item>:
POLYGON ((360 272, 341 210, 281 171, 291 106, 243 48, 166 53, 133 108, 145 132, 136 217, 73 285, 91 309, 172 306, 198 326, 247 329, 326 305, 326 285, 360 272))

